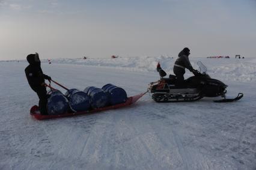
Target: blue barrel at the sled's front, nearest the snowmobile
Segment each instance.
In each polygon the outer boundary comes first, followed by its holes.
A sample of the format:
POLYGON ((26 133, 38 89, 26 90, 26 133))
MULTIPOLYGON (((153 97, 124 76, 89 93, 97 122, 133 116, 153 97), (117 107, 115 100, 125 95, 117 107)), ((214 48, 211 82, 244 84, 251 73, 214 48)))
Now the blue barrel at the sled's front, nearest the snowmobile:
POLYGON ((124 103, 127 100, 127 94, 123 88, 116 87, 112 84, 106 84, 102 89, 108 94, 111 105, 124 103))

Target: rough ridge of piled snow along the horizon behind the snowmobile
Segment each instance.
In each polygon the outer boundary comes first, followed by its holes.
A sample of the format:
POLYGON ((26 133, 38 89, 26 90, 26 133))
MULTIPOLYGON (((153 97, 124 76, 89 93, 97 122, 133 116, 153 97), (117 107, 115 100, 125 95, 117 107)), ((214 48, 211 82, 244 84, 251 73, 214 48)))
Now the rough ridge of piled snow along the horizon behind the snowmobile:
MULTIPOLYGON (((173 65, 176 58, 169 56, 137 56, 137 57, 119 57, 119 58, 58 58, 51 59, 52 64, 78 64, 90 67, 111 67, 118 70, 127 71, 150 71, 156 72, 157 62, 169 74, 173 74, 173 65)), ((195 69, 198 69, 197 61, 203 62, 207 67, 207 73, 215 78, 222 80, 233 80, 240 82, 256 81, 256 59, 245 58, 198 58, 190 57, 190 62, 195 69)), ((25 60, 23 61, 25 62, 25 60)), ((47 63, 47 59, 42 60, 47 63)), ((191 76, 187 70, 185 77, 191 76)))

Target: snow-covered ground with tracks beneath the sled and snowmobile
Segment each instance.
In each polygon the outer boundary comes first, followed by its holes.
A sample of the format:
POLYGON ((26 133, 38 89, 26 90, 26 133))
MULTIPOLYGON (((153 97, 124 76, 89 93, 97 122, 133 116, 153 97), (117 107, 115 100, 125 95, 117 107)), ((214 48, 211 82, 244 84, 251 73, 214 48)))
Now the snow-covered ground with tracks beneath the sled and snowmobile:
MULTIPOLYGON (((112 83, 133 96, 159 78, 158 61, 172 73, 174 60, 52 59, 41 66, 69 88, 112 83)), ((256 59, 190 61, 195 68, 202 61, 229 97, 242 92, 243 99, 155 103, 147 94, 129 108, 37 121, 29 115, 38 97, 25 77, 28 64, 0 62, 0 169, 256 169, 256 59)))

